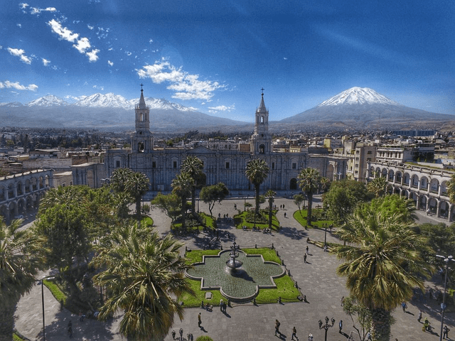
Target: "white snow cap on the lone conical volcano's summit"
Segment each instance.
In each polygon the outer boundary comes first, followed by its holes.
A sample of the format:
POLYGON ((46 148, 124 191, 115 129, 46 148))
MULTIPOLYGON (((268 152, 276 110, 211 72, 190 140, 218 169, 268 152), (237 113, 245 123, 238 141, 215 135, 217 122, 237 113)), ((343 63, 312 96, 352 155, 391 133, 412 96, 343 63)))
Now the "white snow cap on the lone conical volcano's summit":
POLYGON ((392 99, 388 99, 382 94, 378 94, 375 90, 368 87, 351 87, 336 96, 322 102, 318 107, 326 107, 341 104, 385 104, 385 105, 401 105, 392 99))

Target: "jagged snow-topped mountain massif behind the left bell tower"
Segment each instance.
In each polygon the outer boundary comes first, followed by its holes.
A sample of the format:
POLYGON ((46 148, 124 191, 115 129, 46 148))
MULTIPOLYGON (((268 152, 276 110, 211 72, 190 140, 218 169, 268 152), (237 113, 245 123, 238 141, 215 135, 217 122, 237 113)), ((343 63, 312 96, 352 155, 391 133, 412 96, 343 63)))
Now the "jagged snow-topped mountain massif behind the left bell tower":
MULTIPOLYGON (((126 99, 118 94, 97 93, 79 97, 75 101, 68 103, 48 95, 26 104, 2 103, 0 122, 4 126, 90 127, 115 130, 134 128, 134 107, 139 103, 139 98, 126 99)), ((153 115, 150 121, 152 131, 187 131, 210 127, 220 129, 222 126, 245 125, 245 122, 196 112, 192 108, 168 102, 166 99, 147 97, 145 102, 153 115)))

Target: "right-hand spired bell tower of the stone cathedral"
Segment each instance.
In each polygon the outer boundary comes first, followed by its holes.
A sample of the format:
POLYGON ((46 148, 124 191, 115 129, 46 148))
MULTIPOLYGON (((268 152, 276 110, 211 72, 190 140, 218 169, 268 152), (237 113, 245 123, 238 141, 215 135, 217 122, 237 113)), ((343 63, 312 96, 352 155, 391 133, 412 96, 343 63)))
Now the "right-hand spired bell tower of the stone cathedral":
POLYGON ((269 134, 269 111, 264 104, 264 88, 259 107, 256 109, 255 132, 250 139, 250 151, 257 154, 272 152, 272 136, 269 134))

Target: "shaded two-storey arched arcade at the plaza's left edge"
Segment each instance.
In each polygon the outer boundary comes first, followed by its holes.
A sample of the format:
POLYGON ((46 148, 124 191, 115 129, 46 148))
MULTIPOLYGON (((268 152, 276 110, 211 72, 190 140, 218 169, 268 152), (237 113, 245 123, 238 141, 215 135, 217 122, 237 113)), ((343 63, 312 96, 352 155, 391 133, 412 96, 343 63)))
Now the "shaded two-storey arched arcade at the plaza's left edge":
POLYGON ((0 215, 7 223, 38 208, 41 197, 52 187, 52 173, 38 169, 0 178, 0 215))

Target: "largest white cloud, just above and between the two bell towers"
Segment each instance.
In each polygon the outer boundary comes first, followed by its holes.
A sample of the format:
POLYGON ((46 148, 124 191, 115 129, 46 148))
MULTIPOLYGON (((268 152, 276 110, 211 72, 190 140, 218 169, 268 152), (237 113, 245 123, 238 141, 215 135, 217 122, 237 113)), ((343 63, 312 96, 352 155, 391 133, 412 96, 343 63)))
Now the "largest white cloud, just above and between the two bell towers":
POLYGON ((170 83, 168 90, 173 90, 173 98, 177 99, 203 99, 210 101, 213 92, 222 89, 225 85, 210 80, 199 80, 199 75, 190 75, 184 72, 181 67, 177 68, 167 60, 155 62, 154 65, 144 65, 137 70, 140 78, 150 78, 152 82, 160 84, 170 83))

